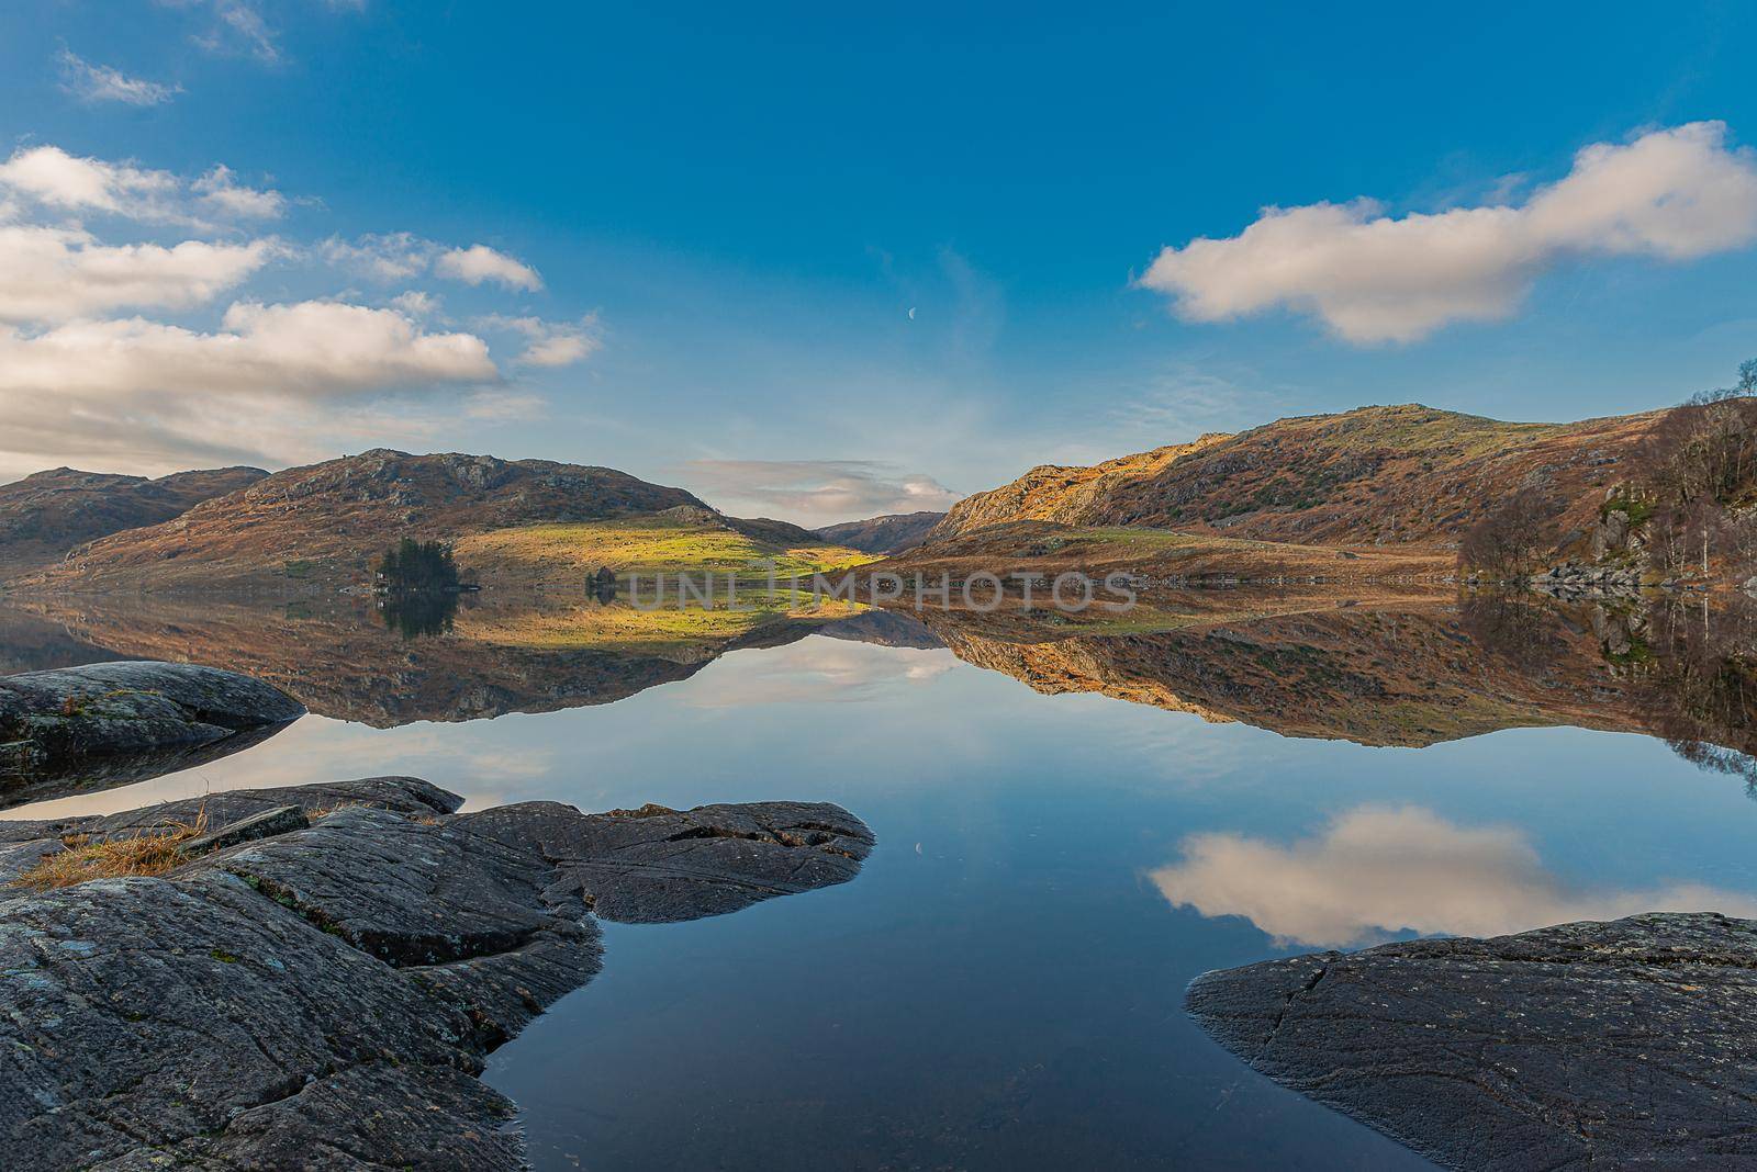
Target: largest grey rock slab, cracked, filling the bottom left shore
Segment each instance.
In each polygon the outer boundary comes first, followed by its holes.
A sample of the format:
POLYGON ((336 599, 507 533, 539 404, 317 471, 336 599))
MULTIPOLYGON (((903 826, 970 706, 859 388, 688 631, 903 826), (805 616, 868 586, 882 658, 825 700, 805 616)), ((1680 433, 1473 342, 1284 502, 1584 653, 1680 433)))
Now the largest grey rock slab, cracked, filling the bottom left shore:
MULTIPOLYGON (((517 1168, 483 1056, 599 968, 594 916, 687 919, 852 879, 835 805, 453 814, 383 777, 207 798, 309 828, 162 879, 0 902, 9 1168, 517 1168), (337 804, 343 804, 337 807, 337 804)), ((188 821, 193 802, 5 826, 4 851, 188 821)))

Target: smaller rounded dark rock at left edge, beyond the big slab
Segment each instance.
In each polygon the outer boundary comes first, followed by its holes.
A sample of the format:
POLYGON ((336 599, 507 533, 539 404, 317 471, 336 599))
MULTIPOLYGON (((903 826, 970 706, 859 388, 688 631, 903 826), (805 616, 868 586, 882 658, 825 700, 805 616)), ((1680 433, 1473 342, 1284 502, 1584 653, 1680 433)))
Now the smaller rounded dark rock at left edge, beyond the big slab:
POLYGON ((304 705, 192 663, 88 663, 0 679, 0 807, 190 768, 279 732, 304 705))

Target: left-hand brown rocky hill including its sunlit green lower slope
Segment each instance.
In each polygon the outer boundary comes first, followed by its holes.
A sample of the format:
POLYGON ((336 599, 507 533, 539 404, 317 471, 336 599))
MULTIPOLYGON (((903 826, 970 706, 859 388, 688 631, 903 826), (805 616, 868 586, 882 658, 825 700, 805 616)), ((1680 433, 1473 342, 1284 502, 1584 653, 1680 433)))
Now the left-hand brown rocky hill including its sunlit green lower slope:
POLYGON ((578 582, 580 570, 687 558, 698 544, 754 568, 794 546, 810 549, 799 563, 849 553, 780 521, 724 518, 680 488, 613 468, 374 449, 276 472, 172 521, 104 537, 16 586, 322 593, 365 581, 402 537, 453 542, 466 570, 513 582, 578 582))

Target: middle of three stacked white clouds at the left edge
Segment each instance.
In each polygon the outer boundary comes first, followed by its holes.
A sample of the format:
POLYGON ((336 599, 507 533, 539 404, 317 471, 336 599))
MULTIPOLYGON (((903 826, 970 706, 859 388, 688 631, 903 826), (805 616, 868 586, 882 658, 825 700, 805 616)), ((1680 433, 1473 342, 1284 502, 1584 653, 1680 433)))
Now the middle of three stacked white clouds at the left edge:
POLYGON ((0 321, 204 305, 258 272, 276 251, 269 240, 109 247, 70 228, 0 225, 0 321))

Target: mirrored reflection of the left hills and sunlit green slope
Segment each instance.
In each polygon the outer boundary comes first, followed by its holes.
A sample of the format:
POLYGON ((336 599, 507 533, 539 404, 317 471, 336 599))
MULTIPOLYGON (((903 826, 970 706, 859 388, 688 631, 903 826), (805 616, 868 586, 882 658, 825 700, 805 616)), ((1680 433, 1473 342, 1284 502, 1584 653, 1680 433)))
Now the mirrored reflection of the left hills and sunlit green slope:
MULTIPOLYGON (((387 600, 381 619, 371 600, 350 598, 260 607, 67 597, 25 605, 25 614, 0 611, 0 630, 37 632, 40 654, 14 654, 18 670, 93 658, 204 663, 265 679, 318 716, 374 728, 613 704, 689 679, 731 651, 785 646, 849 618, 726 609, 648 616, 624 604, 541 598, 459 609, 457 595, 387 600)), ((850 621, 849 637, 896 637, 896 623, 850 621)))

